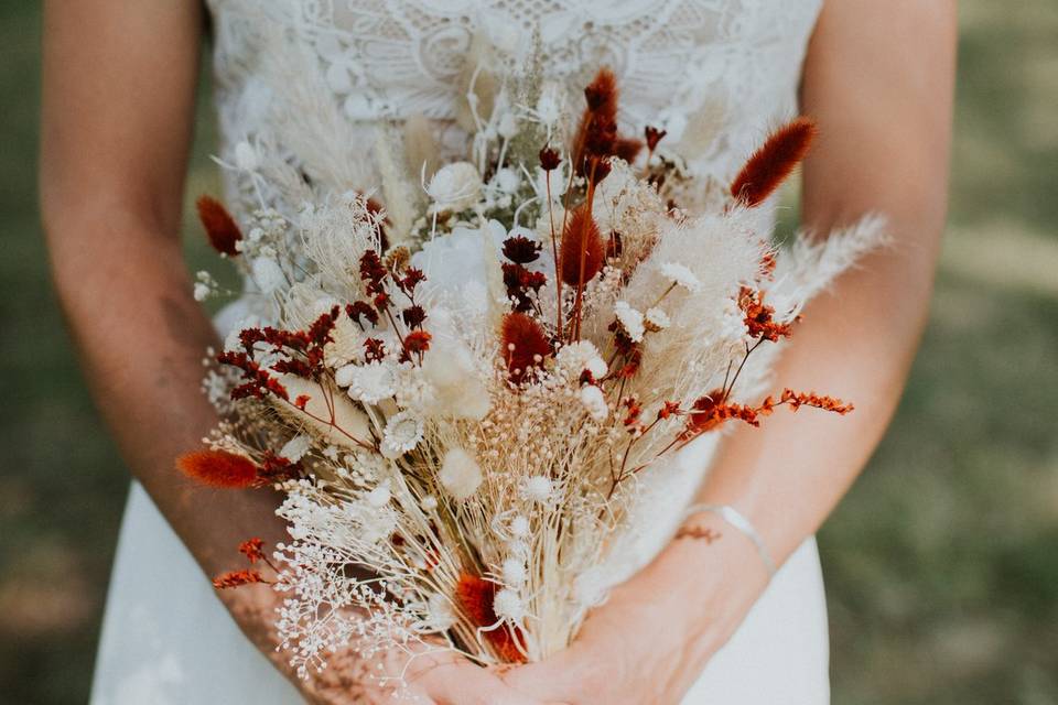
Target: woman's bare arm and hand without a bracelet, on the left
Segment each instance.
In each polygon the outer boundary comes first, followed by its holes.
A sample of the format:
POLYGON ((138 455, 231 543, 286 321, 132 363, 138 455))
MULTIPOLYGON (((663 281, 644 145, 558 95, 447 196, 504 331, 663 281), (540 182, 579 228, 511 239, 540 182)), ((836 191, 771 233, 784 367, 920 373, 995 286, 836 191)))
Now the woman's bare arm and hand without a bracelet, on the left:
MULTIPOLYGON (((93 395, 136 478, 215 575, 233 567, 240 541, 274 543, 284 532, 277 496, 202 488, 173 467, 217 421, 199 391, 216 335, 191 296, 179 238, 203 23, 194 0, 45 3, 41 210, 93 395)), ((274 650, 272 590, 220 597, 310 702, 392 702, 364 679, 376 663, 349 654, 313 682, 296 681, 274 650)), ((406 662, 390 654, 384 668, 396 673, 406 662)), ((419 702, 540 702, 447 657, 418 659, 409 673, 419 702)))

